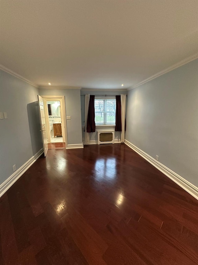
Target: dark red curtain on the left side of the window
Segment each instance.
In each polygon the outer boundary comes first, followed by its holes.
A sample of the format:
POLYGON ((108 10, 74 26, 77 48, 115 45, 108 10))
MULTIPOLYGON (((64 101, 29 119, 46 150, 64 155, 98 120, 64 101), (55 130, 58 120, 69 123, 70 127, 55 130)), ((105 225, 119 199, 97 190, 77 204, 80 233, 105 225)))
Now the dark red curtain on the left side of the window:
POLYGON ((96 131, 94 100, 95 100, 95 96, 90 95, 88 115, 87 115, 87 132, 96 131))

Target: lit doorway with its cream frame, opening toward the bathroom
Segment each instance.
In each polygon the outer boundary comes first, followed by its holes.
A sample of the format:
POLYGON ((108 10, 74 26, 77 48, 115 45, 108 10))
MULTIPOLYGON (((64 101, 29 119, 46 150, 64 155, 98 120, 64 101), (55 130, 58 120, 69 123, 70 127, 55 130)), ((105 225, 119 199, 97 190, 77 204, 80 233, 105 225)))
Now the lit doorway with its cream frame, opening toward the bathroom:
POLYGON ((41 96, 45 111, 48 149, 67 147, 66 110, 64 96, 41 96))

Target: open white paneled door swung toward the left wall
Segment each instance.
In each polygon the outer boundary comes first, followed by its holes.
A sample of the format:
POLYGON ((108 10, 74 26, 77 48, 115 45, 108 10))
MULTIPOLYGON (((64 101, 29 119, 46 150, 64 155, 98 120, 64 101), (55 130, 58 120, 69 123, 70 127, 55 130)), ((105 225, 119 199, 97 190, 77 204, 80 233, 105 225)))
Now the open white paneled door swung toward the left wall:
POLYGON ((43 138, 43 150, 44 155, 47 155, 48 145, 47 145, 47 132, 46 132, 46 124, 45 124, 45 113, 44 113, 44 101, 41 96, 38 95, 38 106, 39 106, 39 114, 41 121, 41 133, 43 138))

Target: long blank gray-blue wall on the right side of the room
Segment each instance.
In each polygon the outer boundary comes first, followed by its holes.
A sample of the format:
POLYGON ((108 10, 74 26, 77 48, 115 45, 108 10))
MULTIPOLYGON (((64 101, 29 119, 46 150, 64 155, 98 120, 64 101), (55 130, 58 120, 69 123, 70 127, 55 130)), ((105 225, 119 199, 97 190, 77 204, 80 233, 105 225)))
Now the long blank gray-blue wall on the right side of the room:
POLYGON ((198 60, 128 92, 125 139, 198 187, 198 60))

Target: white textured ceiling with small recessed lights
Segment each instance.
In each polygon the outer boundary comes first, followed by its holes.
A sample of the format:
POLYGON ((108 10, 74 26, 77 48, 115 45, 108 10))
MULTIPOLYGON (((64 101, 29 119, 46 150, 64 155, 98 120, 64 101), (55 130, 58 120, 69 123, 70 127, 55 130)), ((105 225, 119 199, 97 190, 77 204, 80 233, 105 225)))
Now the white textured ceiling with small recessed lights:
POLYGON ((1 0, 0 18, 0 63, 40 86, 129 88, 198 51, 197 0, 1 0))

